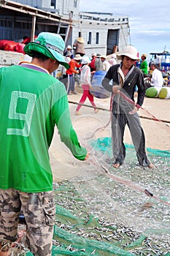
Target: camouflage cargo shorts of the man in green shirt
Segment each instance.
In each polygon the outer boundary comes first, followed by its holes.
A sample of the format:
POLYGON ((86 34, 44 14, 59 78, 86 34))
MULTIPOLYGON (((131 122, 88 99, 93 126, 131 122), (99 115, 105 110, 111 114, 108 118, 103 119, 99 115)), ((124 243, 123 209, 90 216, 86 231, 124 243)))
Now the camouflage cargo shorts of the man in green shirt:
POLYGON ((26 246, 34 255, 50 256, 55 203, 53 191, 26 193, 0 189, 0 241, 17 239, 20 210, 26 219, 26 246))

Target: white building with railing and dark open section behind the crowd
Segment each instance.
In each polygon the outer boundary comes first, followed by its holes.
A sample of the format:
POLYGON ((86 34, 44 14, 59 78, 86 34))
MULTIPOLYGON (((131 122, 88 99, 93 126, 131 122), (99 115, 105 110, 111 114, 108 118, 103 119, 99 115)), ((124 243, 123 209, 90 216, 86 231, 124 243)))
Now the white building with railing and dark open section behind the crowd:
MULTIPOLYGON (((84 1, 84 0, 81 0, 84 1)), ((127 15, 80 12, 80 0, 3 0, 0 39, 18 40, 41 31, 61 34, 66 45, 85 40, 85 53, 110 54, 128 45, 127 15)))

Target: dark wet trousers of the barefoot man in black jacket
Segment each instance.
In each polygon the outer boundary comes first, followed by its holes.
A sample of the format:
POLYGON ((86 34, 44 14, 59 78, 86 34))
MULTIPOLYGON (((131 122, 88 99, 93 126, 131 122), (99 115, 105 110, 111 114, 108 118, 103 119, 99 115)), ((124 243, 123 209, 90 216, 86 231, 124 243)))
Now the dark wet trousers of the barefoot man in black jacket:
POLYGON ((131 138, 136 150, 136 156, 139 165, 148 166, 150 161, 147 159, 145 151, 145 138, 144 131, 142 129, 139 115, 135 113, 131 114, 113 114, 112 113, 112 151, 113 151, 113 163, 120 165, 123 164, 125 159, 125 145, 123 143, 123 136, 125 132, 125 125, 131 132, 131 138))

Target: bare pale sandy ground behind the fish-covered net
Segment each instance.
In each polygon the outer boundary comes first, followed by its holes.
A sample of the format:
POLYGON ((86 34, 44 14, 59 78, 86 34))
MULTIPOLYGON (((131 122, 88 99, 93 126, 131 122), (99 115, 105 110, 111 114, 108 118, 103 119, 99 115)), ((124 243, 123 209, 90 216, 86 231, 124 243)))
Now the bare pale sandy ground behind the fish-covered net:
MULTIPOLYGON (((69 102, 79 102, 82 92, 79 88, 77 88, 77 91, 77 95, 69 95, 69 102)), ((80 109, 81 116, 75 116, 77 105, 75 103, 69 103, 72 124, 82 145, 88 146, 88 140, 90 138, 96 140, 97 138, 111 137, 108 111, 109 101, 109 98, 95 98, 97 107, 103 108, 104 110, 94 113, 93 108, 82 106, 80 109), (106 128, 98 129, 103 127, 106 128)), ((90 106, 88 99, 85 105, 90 106)), ((144 128, 146 147, 169 151, 170 123, 164 121, 170 122, 170 99, 150 99, 145 97, 142 108, 144 110, 139 110, 139 116, 141 116, 142 127, 144 128), (152 118, 158 118, 160 121, 153 121, 152 118)), ((133 144, 128 128, 125 129, 125 143, 133 144)), ((61 143, 57 129, 55 129, 55 136, 50 146, 50 162, 53 169, 54 181, 69 179, 79 174, 82 175, 84 171, 83 167, 87 167, 88 165, 88 161, 80 162, 74 159, 68 148, 61 143)))

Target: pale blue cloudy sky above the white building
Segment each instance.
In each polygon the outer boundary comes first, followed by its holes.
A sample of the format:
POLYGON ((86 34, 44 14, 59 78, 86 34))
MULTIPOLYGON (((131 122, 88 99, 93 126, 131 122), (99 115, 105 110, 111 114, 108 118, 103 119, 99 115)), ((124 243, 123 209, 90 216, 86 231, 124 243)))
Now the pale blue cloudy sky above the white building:
POLYGON ((151 52, 170 52, 170 0, 80 0, 80 12, 109 12, 128 15, 129 45, 139 56, 151 52))

